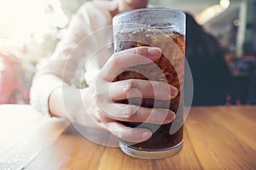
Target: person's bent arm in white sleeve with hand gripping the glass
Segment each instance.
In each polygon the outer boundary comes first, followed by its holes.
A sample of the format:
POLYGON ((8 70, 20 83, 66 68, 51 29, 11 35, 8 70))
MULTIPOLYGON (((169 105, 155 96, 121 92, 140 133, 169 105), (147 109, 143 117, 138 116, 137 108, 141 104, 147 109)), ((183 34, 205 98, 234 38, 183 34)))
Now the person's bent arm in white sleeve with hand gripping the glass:
MULTIPOLYGON (((71 28, 72 31, 77 31, 76 29, 84 31, 84 27, 79 23, 77 26, 72 25, 71 28)), ((177 89, 164 82, 145 80, 113 82, 119 71, 159 59, 161 55, 159 49, 131 48, 113 54, 92 78, 89 88, 78 89, 74 88, 71 82, 81 59, 86 56, 84 51, 90 53, 90 49, 85 48, 90 43, 80 47, 81 50, 73 51, 79 43, 78 40, 81 40, 79 38, 83 38, 83 36, 78 37, 77 34, 67 35, 67 39, 59 43, 52 59, 48 59, 38 71, 32 86, 32 104, 41 105, 39 107, 44 108, 50 116, 64 117, 84 127, 102 128, 121 139, 134 142, 149 139, 152 135, 151 131, 145 128, 126 127, 123 121, 155 124, 172 122, 175 117, 172 111, 116 102, 119 99, 126 99, 127 95, 154 99, 154 94, 160 94, 157 98, 165 100, 177 95, 177 89), (157 87, 157 91, 154 91, 152 84, 157 87), (162 90, 166 88, 168 91, 162 90), (137 89, 141 94, 131 93, 133 89, 137 89), (38 102, 40 99, 42 101, 38 102)))

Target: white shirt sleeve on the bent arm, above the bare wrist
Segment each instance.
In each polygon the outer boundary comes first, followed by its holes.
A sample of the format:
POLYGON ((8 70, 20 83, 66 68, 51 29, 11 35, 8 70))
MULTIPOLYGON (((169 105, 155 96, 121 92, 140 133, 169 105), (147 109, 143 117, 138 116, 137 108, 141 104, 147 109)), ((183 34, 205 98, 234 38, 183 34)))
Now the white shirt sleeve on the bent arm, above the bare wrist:
MULTIPOLYGON (((81 39, 91 31, 90 19, 86 18, 87 15, 84 13, 86 13, 86 6, 81 7, 78 13, 73 15, 67 31, 65 31, 65 37, 57 44, 54 54, 39 63, 38 71, 33 78, 30 93, 31 104, 46 116, 50 112, 49 95, 61 86, 72 88, 75 72, 84 58, 80 49, 76 50, 78 51, 76 56, 73 53, 81 39), (65 68, 65 75, 63 75, 63 68, 65 68)), ((53 116, 52 113, 50 115, 53 116)))

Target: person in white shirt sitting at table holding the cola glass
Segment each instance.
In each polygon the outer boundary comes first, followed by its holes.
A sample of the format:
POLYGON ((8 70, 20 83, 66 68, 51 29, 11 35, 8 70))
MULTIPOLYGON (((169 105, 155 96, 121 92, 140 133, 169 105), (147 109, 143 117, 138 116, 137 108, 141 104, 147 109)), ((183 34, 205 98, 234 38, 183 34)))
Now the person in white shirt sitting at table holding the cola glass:
MULTIPOLYGON (((32 82, 31 104, 45 115, 64 117, 84 127, 107 130, 120 139, 131 142, 145 141, 151 137, 152 132, 146 128, 126 127, 121 123, 123 121, 145 122, 151 115, 148 122, 159 124, 161 122, 157 120, 161 118, 164 118, 164 123, 172 122, 175 117, 173 111, 115 102, 126 98, 134 88, 141 91, 145 98, 154 98, 154 93, 157 93, 162 94, 158 96, 159 99, 166 99, 166 94, 161 92, 161 88, 154 91, 151 86, 151 83, 154 83, 157 87, 164 87, 164 82, 113 82, 113 77, 119 71, 124 71, 132 65, 143 65, 159 59, 160 48, 131 48, 115 54, 111 45, 109 48, 101 48, 102 44, 113 44, 112 32, 104 32, 104 28, 112 26, 114 15, 135 8, 146 8, 147 5, 148 0, 84 3, 73 15, 67 32, 56 46, 54 54, 38 66, 32 82), (101 29, 102 34, 101 31, 100 35, 94 33, 101 29), (90 41, 83 44, 84 38, 89 38, 90 41), (92 49, 98 50, 99 58, 91 59, 86 67, 85 81, 88 88, 75 88, 73 79, 78 76, 76 73, 81 63, 84 64, 84 59, 88 60, 89 56, 95 53, 92 49), (144 57, 138 57, 139 55, 144 57)), ((168 86, 171 90, 167 96, 174 98, 177 95, 177 88, 168 86)))

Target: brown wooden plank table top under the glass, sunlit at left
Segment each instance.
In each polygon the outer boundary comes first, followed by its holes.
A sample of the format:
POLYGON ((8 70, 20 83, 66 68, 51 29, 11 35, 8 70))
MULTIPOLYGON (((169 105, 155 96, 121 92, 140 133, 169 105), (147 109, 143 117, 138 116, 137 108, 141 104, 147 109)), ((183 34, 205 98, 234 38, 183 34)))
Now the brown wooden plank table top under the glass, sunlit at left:
POLYGON ((0 169, 256 169, 256 106, 191 108, 183 150, 160 160, 90 142, 29 105, 0 105, 0 169))

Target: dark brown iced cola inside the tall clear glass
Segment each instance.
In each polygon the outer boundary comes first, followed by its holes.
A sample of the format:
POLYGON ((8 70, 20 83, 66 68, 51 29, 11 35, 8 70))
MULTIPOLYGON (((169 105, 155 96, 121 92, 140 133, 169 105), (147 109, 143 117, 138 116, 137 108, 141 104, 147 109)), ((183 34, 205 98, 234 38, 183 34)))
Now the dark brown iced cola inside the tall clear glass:
MULTIPOLYGON (((164 28, 139 29, 136 31, 118 32, 114 44, 115 52, 141 46, 159 47, 162 50, 160 59, 147 65, 136 65, 125 69, 114 81, 126 79, 143 79, 172 84, 178 90, 177 97, 171 100, 160 99, 122 99, 119 102, 130 105, 141 105, 148 108, 170 109, 176 114, 183 114, 183 76, 185 37, 172 31, 171 26, 164 28), (157 65, 157 68, 156 66, 157 65)), ((145 122, 123 122, 129 127, 145 127, 153 131, 153 136, 145 142, 131 143, 121 140, 122 144, 136 150, 166 150, 183 142, 183 116, 176 117, 178 128, 171 132, 172 122, 156 125, 145 122), (179 119, 179 120, 177 120, 179 119)))

